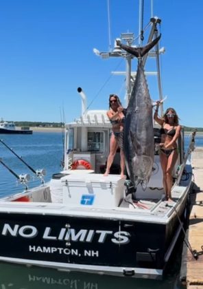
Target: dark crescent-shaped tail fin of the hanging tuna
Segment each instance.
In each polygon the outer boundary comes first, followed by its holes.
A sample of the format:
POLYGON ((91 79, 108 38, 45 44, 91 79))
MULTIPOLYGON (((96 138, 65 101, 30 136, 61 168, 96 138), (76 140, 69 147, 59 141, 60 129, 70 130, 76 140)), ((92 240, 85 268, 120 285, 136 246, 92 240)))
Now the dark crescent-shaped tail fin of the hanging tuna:
POLYGON ((160 36, 161 34, 158 37, 156 37, 156 39, 154 39, 150 43, 147 43, 147 45, 143 47, 131 47, 122 44, 120 41, 117 41, 117 45, 119 45, 123 50, 126 50, 130 54, 136 56, 137 58, 142 58, 145 54, 147 54, 147 52, 149 52, 152 49, 152 47, 154 47, 154 45, 156 45, 156 43, 158 43, 160 36))

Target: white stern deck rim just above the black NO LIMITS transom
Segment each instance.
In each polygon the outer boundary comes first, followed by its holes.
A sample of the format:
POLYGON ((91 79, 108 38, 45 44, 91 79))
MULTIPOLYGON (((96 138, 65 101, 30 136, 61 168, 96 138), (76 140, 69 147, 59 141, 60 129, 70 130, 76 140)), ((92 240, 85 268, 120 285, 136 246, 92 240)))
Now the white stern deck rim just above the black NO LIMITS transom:
MULTIPOLYGON (((40 193, 47 190, 48 186, 41 186, 40 193)), ((165 195, 162 191, 154 190, 154 195, 160 195, 159 198, 139 198, 132 200, 132 195, 129 194, 121 200, 119 206, 114 207, 103 207, 103 206, 82 206, 79 204, 69 204, 69 203, 51 203, 51 202, 35 202, 32 201, 34 198, 34 191, 27 191, 23 194, 23 197, 29 197, 29 201, 21 202, 22 195, 19 194, 18 202, 15 204, 11 201, 12 197, 5 197, 1 199, 2 206, 0 205, 1 212, 6 213, 23 213, 26 214, 38 214, 43 215, 71 215, 75 217, 95 217, 98 219, 113 218, 115 220, 137 220, 139 222, 157 222, 159 224, 165 224, 168 218, 176 214, 176 208, 181 204, 181 200, 185 198, 185 187, 184 186, 174 186, 172 190, 172 197, 174 202, 167 202, 165 200, 165 195), (80 211, 80 215, 78 215, 80 211)), ((147 193, 146 193, 147 194, 147 193)), ((152 192, 151 192, 152 194, 152 192)), ((14 196, 16 197, 16 195, 14 196)))

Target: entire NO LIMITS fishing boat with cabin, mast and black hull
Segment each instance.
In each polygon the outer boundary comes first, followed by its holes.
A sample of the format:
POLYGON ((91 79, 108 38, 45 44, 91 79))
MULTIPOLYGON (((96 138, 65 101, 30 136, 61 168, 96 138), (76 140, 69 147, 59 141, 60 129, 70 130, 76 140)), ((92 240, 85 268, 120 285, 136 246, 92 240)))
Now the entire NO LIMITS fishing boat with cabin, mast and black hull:
MULTIPOLYGON (((157 17, 150 20, 148 42, 157 36, 159 23, 157 17)), ((130 45, 133 39, 132 34, 121 34, 121 41, 130 45)), ((107 54, 95 52, 104 58, 107 54)), ((160 100, 163 96, 158 65, 162 52, 157 43, 148 53, 148 57, 156 59, 160 100)), ((129 96, 134 58, 119 47, 108 56, 126 59, 129 96)), ((28 189, 27 176, 16 175, 25 190, 0 200, 0 261, 99 275, 162 278, 187 217, 194 133, 184 151, 181 131, 171 191, 173 202, 167 202, 156 149, 160 127, 153 123, 152 175, 147 189, 138 185, 134 193, 130 180, 120 176, 119 153, 112 171, 104 176, 111 124, 106 111, 87 110, 86 95, 81 87, 77 91, 82 96, 82 115, 65 125, 62 171, 44 182, 43 172, 31 168, 42 181, 34 189, 28 189)))

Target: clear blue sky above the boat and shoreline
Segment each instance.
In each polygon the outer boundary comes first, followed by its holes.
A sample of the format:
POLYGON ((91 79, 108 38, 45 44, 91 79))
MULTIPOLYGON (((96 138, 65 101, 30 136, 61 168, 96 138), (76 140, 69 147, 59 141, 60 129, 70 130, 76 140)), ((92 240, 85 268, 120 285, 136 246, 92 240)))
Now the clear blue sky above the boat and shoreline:
MULTIPOLYGON (((121 32, 139 32, 139 0, 109 0, 110 40, 121 32)), ((125 78, 121 58, 101 59, 108 51, 107 0, 0 1, 0 118, 69 122, 81 114, 77 87, 90 109, 108 109, 108 96, 119 94, 124 105, 125 78)), ((145 0, 144 25, 151 0, 145 0)), ((174 107, 182 125, 202 124, 202 0, 154 0, 154 16, 162 19, 160 46, 164 109, 174 107)), ((147 38, 145 38, 147 39, 147 38)), ((145 41, 144 41, 145 42, 145 41)), ((136 70, 136 60, 132 63, 136 70)), ((150 86, 153 100, 158 99, 150 86)))

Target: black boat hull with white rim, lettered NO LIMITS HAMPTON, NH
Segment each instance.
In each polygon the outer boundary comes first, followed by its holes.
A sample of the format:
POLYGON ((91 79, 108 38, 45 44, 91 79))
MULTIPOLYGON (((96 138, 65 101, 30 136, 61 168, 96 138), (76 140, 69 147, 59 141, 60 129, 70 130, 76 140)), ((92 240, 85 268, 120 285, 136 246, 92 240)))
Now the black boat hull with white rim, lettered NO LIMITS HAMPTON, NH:
POLYGON ((111 208, 54 204, 50 184, 1 200, 1 261, 105 275, 162 277, 184 222, 189 181, 174 186, 171 204, 162 199, 140 200, 135 208, 128 203, 132 202, 130 195, 128 202, 123 199, 111 208))

